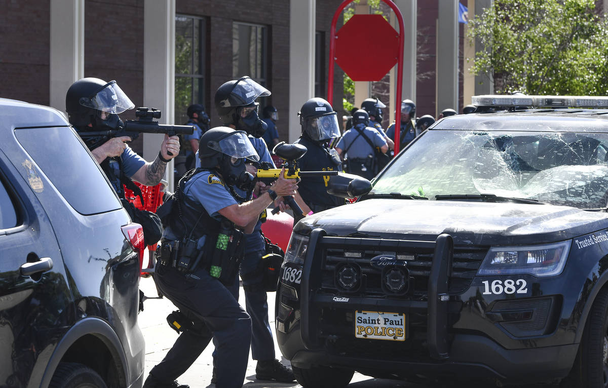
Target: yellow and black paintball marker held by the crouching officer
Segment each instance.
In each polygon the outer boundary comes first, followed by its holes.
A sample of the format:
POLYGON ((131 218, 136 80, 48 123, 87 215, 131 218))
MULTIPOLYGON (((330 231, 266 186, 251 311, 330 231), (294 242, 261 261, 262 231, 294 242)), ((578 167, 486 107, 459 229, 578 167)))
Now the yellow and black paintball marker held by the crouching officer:
MULTIPOLYGON (((300 171, 297 160, 302 158, 306 151, 308 151, 306 150, 306 147, 301 144, 286 144, 285 142, 280 142, 275 145, 272 152, 279 158, 285 159, 285 163, 282 166, 285 167, 283 178, 297 179, 300 181, 300 178, 305 176, 338 175, 338 171, 300 171)), ((270 168, 268 163, 262 162, 258 168, 257 179, 264 183, 270 183, 280 176, 281 170, 281 168, 270 168)), ((303 217, 306 217, 306 214, 302 213, 302 209, 300 209, 300 206, 295 202, 294 197, 284 196, 283 200, 294 211, 294 220, 296 222, 303 217)), ((278 211, 278 207, 275 207, 274 210, 272 210, 272 214, 276 214, 278 211)))

